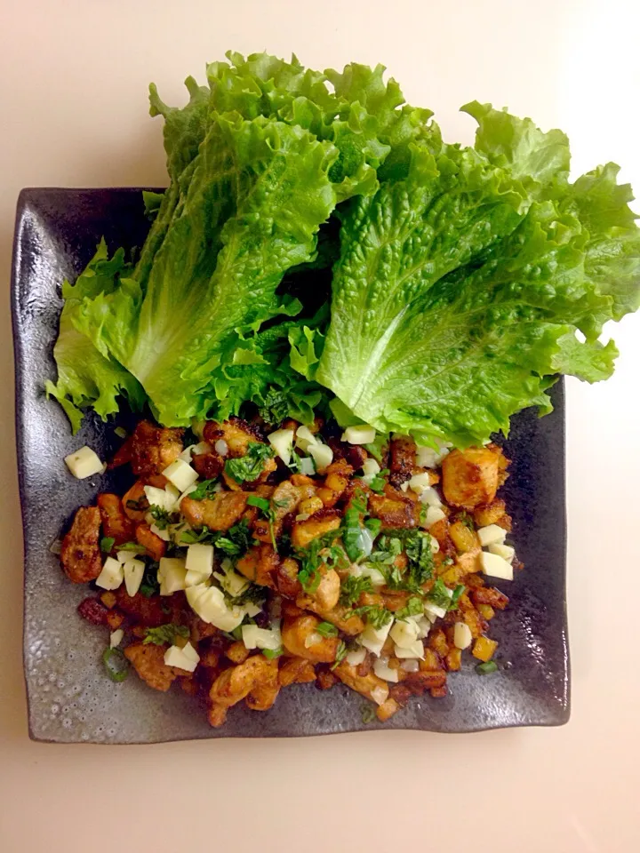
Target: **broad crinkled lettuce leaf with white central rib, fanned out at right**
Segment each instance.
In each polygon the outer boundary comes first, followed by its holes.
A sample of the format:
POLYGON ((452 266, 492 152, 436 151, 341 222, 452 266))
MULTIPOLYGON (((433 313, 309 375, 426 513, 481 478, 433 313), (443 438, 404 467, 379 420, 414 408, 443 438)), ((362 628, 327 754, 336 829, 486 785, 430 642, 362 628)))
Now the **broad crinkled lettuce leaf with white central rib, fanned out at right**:
MULTIPOLYGON (((615 347, 593 337, 593 317, 615 310, 600 282, 627 303, 636 284, 631 269, 628 284, 615 284, 604 222, 580 220, 580 199, 596 192, 592 181, 566 184, 563 196, 562 140, 546 147, 547 167, 533 152, 545 146, 532 128, 509 136, 500 120, 497 140, 491 126, 485 132, 491 159, 447 146, 434 157, 414 147, 406 180, 342 214, 332 321, 316 379, 340 399, 343 420, 350 414, 380 432, 464 446, 507 433, 510 415, 524 407, 549 411, 544 392, 556 371, 589 381, 612 371, 615 347)), ((603 213, 616 192, 610 181, 603 213)), ((627 215, 615 218, 615 227, 628 229, 617 234, 616 264, 637 257, 627 215)))

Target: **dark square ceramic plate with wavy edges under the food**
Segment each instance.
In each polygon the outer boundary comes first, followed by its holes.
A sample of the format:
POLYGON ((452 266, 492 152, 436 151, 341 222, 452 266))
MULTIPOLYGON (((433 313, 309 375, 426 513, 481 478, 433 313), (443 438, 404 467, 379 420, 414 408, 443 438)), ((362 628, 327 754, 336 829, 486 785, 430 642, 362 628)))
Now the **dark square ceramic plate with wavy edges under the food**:
MULTIPOLYGON (((513 420, 506 444, 513 459, 502 492, 514 516, 513 541, 526 570, 500 586, 511 598, 492 622, 500 641, 496 674, 476 674, 468 659, 449 678, 444 699, 412 700, 385 726, 364 726, 364 700, 346 688, 283 690, 266 713, 233 709, 211 729, 204 709, 179 689, 149 690, 131 677, 114 684, 100 656, 104 629, 84 622, 76 605, 86 588, 60 571, 50 546, 77 506, 113 489, 115 474, 77 481, 63 457, 89 444, 107 458, 116 424, 87 419, 72 436, 68 421, 43 393, 55 377, 53 342, 60 315, 60 283, 74 279, 104 235, 109 247, 133 247, 148 228, 140 190, 29 189, 16 222, 12 310, 16 353, 17 432, 25 540, 24 659, 29 730, 37 740, 153 743, 196 737, 318 735, 364 728, 476 731, 506 726, 560 725, 569 716, 569 653, 564 606, 564 394, 556 411, 513 420)), ((469 656, 470 657, 470 656, 469 656)))

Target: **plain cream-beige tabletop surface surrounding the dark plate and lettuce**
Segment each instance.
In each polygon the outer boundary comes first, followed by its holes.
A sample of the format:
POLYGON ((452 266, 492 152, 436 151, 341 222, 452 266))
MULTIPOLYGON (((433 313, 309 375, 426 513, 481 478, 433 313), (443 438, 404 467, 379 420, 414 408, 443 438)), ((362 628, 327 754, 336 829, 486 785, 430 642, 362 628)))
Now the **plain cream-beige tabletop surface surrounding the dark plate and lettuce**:
POLYGON ((0 0, 0 850, 306 853, 640 849, 637 663, 640 318, 616 329, 614 379, 568 388, 572 720, 470 736, 365 733, 145 747, 28 741, 8 308, 20 187, 155 185, 155 80, 228 48, 324 68, 384 62, 408 100, 472 98, 570 133, 576 169, 624 164, 640 187, 640 20, 628 0, 0 0))

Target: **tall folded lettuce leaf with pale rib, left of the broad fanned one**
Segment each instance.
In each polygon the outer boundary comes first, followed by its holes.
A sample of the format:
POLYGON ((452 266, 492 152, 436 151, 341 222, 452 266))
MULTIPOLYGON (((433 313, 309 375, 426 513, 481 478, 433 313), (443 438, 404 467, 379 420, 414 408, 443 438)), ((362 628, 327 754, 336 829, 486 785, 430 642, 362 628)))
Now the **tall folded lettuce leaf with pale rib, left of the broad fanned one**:
POLYGON ((121 279, 84 300, 77 328, 140 380, 162 423, 204 417, 238 331, 288 310, 276 288, 314 256, 336 156, 298 127, 212 116, 146 289, 121 279))

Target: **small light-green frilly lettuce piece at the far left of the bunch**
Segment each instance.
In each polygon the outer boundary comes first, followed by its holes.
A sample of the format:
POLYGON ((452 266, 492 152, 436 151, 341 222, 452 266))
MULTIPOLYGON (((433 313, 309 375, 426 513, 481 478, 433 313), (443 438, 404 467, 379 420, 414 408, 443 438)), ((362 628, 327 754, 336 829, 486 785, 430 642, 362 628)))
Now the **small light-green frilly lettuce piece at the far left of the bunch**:
POLYGON ((53 357, 58 368, 58 381, 46 382, 46 393, 54 397, 71 422, 76 433, 83 419, 81 409, 92 407, 100 418, 119 409, 118 397, 124 395, 134 410, 140 410, 146 395, 140 383, 124 367, 100 352, 92 339, 77 331, 74 318, 82 301, 100 293, 111 293, 121 275, 130 271, 124 262, 124 251, 118 249, 108 259, 107 244, 102 240, 98 249, 75 284, 62 284, 65 300, 60 315, 60 332, 53 347, 53 357))

